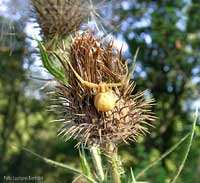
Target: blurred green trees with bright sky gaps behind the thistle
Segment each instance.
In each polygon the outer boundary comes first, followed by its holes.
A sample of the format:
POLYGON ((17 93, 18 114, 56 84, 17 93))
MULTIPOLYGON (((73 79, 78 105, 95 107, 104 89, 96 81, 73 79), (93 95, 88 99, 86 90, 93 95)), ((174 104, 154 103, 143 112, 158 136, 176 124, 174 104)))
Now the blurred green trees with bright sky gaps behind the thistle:
MULTIPOLYGON (((194 0, 127 0, 111 1, 111 8, 115 18, 110 17, 110 22, 114 27, 121 25, 117 34, 123 35, 130 53, 134 55, 140 47, 134 75, 137 90, 148 89, 148 95, 157 101, 153 110, 159 119, 150 129, 151 135, 138 139, 138 143, 120 146, 125 169, 132 167, 137 174, 190 130, 194 102, 200 95, 200 4, 194 0)), ((9 29, 9 22, 1 18, 0 30, 2 26, 9 29)), ((26 40, 24 26, 19 26, 23 24, 13 22, 14 32, 9 33, 14 35, 3 35, 0 40, 0 178, 31 175, 42 176, 45 183, 68 183, 72 174, 50 167, 22 150, 24 146, 53 160, 80 166, 75 142, 65 143, 57 138, 60 124, 49 123, 55 116, 46 111, 49 103, 44 92, 39 98, 28 95, 33 88, 39 91, 41 82, 30 78, 34 50, 26 40)), ((177 183, 199 182, 199 147, 197 128, 177 183)), ((167 182, 184 151, 185 146, 181 145, 141 180, 167 182)))

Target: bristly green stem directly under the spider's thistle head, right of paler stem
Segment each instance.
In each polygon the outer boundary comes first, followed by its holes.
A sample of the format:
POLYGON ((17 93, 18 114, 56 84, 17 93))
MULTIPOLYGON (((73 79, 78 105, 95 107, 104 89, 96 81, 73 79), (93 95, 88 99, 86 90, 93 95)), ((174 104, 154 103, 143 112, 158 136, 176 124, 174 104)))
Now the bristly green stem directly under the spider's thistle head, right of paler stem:
POLYGON ((107 148, 109 173, 112 183, 121 183, 120 179, 120 161, 117 154, 117 148, 110 143, 107 148))

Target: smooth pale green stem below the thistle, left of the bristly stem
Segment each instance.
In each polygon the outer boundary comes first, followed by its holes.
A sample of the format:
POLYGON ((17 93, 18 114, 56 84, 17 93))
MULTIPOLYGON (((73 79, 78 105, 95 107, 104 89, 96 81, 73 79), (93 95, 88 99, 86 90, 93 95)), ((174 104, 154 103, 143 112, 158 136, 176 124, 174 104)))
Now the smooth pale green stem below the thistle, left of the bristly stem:
POLYGON ((103 172, 99 146, 94 145, 94 146, 90 147, 90 153, 91 153, 94 168, 96 170, 96 174, 99 178, 99 181, 103 182, 105 176, 104 176, 104 172, 103 172))

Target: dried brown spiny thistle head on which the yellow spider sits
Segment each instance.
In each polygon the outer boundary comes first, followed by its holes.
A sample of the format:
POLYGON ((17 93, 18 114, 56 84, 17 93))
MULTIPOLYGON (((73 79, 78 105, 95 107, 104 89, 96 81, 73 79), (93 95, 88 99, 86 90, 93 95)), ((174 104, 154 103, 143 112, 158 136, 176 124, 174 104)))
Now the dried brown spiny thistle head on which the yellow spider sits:
MULTIPOLYGON (((153 100, 145 100, 144 92, 132 95, 135 84, 130 76, 134 65, 128 73, 127 63, 122 62, 122 50, 115 48, 113 39, 95 38, 86 31, 75 36, 70 55, 62 49, 62 57, 57 57, 69 85, 57 86, 56 95, 64 114, 59 135, 105 147, 109 142, 117 145, 135 141, 148 131, 149 122, 155 119, 150 110, 153 100), (114 97, 115 106, 105 112, 95 105, 95 100, 99 100, 95 97, 106 92, 114 97)), ((107 106, 110 101, 103 102, 107 106)))

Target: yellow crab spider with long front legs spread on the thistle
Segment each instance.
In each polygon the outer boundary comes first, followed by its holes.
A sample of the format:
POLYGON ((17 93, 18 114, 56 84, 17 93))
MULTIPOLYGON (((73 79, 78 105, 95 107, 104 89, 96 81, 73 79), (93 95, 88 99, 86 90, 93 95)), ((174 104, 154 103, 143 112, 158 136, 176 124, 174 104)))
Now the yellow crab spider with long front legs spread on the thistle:
MULTIPOLYGON (((67 60, 69 67, 72 69, 73 73, 75 74, 76 78, 81 82, 81 84, 89 87, 89 88, 97 88, 97 93, 94 96, 94 106, 97 111, 100 112, 108 112, 115 108, 118 100, 118 96, 114 93, 111 89, 112 87, 119 87, 126 85, 130 80, 134 70, 135 70, 135 62, 138 55, 139 49, 136 50, 135 56, 133 58, 133 62, 130 67, 130 72, 121 80, 119 83, 103 83, 100 82, 99 84, 88 82, 83 80, 83 78, 75 71, 73 66, 71 65, 70 61, 67 60)), ((126 62, 127 65, 127 62, 126 62)), ((128 69, 127 69, 128 70, 128 69)))

